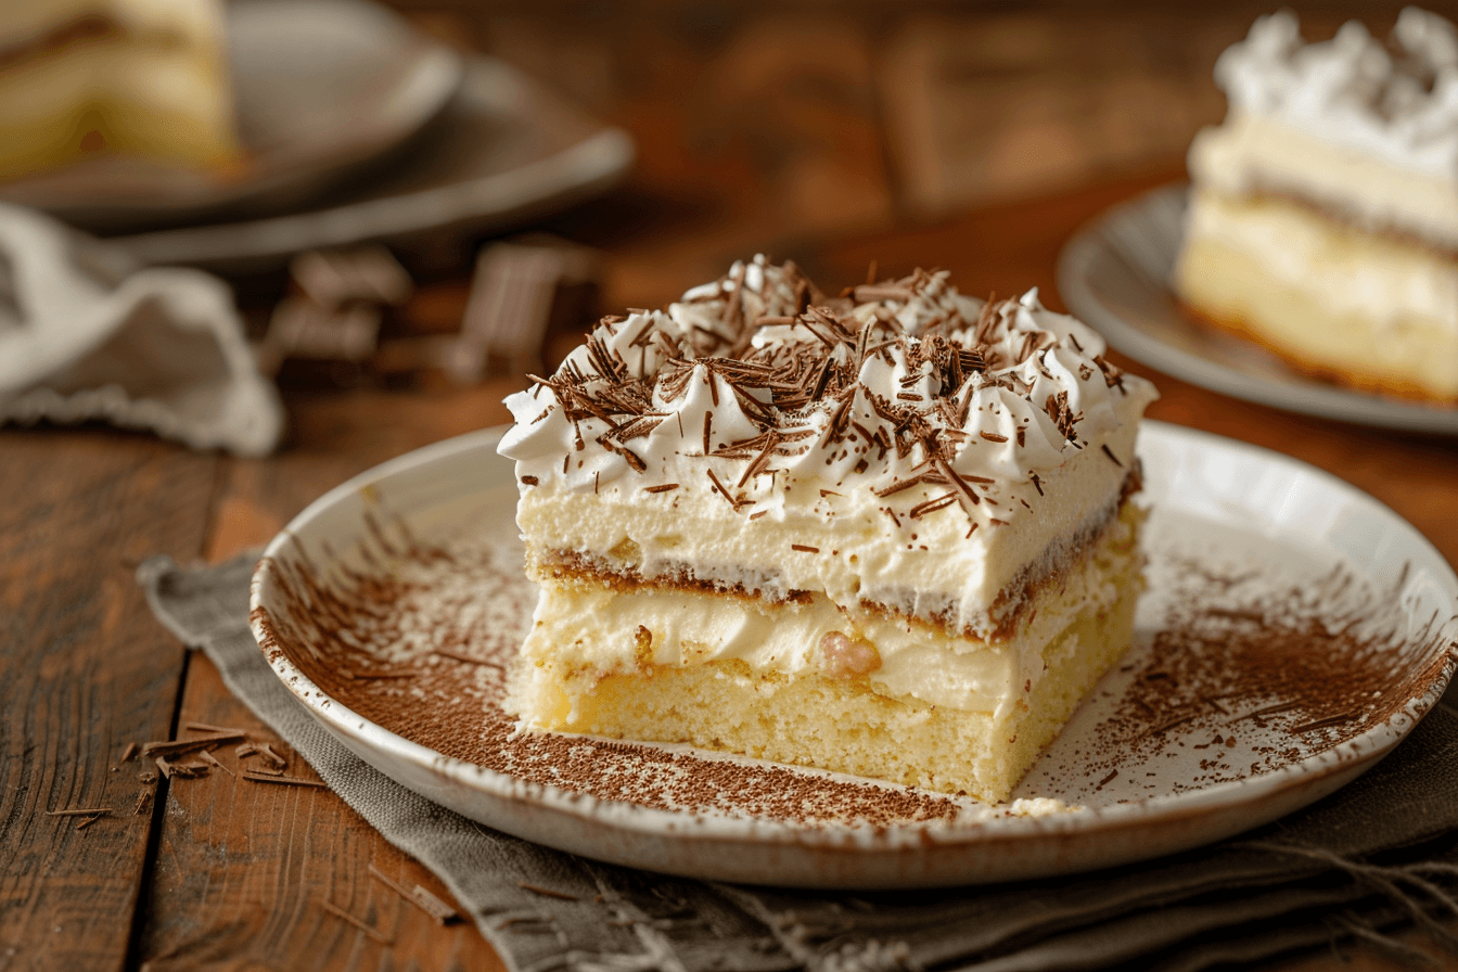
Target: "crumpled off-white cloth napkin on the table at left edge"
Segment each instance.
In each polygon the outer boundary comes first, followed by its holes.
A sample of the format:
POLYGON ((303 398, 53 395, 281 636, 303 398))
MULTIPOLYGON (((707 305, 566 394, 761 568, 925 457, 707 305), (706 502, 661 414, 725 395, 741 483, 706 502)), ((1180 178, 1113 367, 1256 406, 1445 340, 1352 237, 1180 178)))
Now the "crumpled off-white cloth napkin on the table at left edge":
POLYGON ((262 456, 284 414, 222 280, 0 204, 0 423, 42 420, 262 456))

